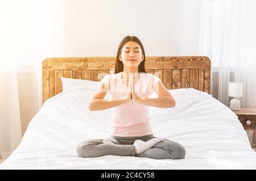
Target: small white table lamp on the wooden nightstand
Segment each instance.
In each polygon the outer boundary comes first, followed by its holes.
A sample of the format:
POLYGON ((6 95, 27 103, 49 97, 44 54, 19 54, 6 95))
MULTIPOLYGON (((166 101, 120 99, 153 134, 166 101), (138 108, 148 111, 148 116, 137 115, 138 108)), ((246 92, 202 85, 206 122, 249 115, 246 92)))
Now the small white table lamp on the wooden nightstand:
POLYGON ((231 110, 240 110, 240 100, 238 97, 242 96, 243 92, 243 83, 242 82, 229 82, 229 92, 228 95, 230 97, 234 97, 230 100, 229 108, 231 110))

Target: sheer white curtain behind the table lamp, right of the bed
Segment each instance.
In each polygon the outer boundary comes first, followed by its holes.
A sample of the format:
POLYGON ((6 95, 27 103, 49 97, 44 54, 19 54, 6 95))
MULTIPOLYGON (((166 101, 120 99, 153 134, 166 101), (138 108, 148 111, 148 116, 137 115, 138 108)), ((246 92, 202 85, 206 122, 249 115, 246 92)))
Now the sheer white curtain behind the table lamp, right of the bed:
POLYGON ((229 106, 228 82, 242 82, 242 107, 256 106, 256 1, 201 1, 199 54, 212 60, 211 94, 229 106))

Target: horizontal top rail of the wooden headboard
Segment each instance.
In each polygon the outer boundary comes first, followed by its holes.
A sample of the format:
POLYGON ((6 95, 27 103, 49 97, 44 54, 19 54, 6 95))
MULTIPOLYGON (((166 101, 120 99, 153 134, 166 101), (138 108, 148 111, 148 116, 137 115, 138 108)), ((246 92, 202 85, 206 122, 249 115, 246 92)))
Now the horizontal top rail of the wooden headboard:
MULTIPOLYGON (((115 57, 64 57, 46 58, 43 70, 110 70, 115 57)), ((210 68, 210 59, 205 56, 146 57, 145 69, 199 69, 210 68)))

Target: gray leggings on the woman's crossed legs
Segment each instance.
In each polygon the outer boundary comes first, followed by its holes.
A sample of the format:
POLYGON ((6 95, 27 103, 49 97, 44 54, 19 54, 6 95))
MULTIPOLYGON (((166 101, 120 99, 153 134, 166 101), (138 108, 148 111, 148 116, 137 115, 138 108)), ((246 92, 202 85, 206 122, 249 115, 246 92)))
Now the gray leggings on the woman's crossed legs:
POLYGON ((185 149, 177 142, 167 140, 158 142, 151 149, 135 155, 135 140, 148 141, 156 138, 153 134, 140 137, 116 137, 110 136, 113 144, 103 144, 103 139, 82 141, 77 145, 77 155, 84 158, 102 157, 105 155, 147 157, 153 159, 184 159, 185 149))

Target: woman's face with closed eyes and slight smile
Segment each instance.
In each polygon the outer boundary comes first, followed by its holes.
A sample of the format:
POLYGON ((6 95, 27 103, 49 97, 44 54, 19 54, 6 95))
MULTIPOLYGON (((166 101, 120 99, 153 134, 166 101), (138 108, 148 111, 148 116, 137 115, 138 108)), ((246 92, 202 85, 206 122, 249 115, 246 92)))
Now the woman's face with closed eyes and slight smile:
POLYGON ((134 41, 128 41, 121 50, 119 60, 123 62, 123 66, 138 67, 143 61, 142 49, 138 43, 134 41))

